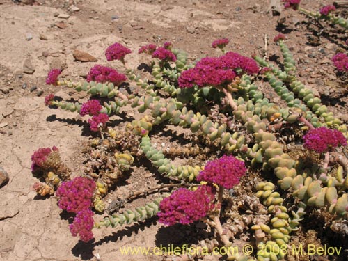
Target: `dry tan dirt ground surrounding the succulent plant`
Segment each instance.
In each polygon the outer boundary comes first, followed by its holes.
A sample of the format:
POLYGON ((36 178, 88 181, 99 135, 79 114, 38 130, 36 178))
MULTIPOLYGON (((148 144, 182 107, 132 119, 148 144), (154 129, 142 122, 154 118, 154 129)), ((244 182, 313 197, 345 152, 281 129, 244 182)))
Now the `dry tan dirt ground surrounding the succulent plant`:
MULTIPOLYGON (((302 2, 312 10, 331 3, 302 2)), ((10 176, 0 189, 0 260, 96 260, 97 254, 101 260, 160 260, 121 256, 119 248, 159 246, 177 236, 175 229, 166 230, 154 219, 131 228, 96 230, 95 242, 81 244, 71 237, 56 198, 38 198, 31 189, 37 181, 30 170, 34 150, 56 145, 65 163, 79 173, 83 168, 79 148, 88 139, 83 131, 86 122, 77 113, 45 106, 44 97, 49 93, 69 98, 66 88, 45 84, 47 72, 63 68, 63 76, 77 80, 96 63, 122 71, 119 63, 108 63, 104 56, 104 49, 113 42, 134 51, 127 56, 127 66, 135 68, 144 57, 137 49, 149 42, 171 41, 193 61, 207 54, 219 55, 210 45, 222 37, 230 39, 229 50, 248 56, 262 54, 267 34, 268 54, 276 60, 280 53, 272 39, 282 31, 299 61, 300 79, 319 92, 331 111, 347 120, 346 88, 340 85, 330 61, 336 49, 344 47, 346 36, 331 37, 324 32, 317 38, 315 25, 303 24, 306 17, 292 10, 273 17, 267 13, 268 6, 267 0, 38 0, 32 5, 0 0, 0 166, 10 176), (79 10, 73 11, 72 5, 79 10), (56 26, 58 22, 63 22, 63 29, 56 26), (74 49, 88 52, 98 61, 74 61, 74 49), (24 70, 35 72, 26 74, 24 70)), ((143 175, 148 173, 143 170, 143 175)), ((132 182, 143 184, 132 177, 125 181, 132 182)), ((127 193, 127 189, 121 191, 127 193)))

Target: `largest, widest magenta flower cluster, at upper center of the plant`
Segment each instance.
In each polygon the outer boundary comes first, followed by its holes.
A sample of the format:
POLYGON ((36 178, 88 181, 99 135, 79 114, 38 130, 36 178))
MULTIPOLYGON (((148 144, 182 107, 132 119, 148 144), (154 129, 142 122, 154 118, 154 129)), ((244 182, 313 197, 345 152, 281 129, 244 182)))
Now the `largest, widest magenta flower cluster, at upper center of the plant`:
POLYGON ((259 71, 258 63, 252 58, 242 56, 235 52, 227 52, 220 57, 205 57, 192 69, 181 73, 178 83, 180 88, 191 88, 194 85, 221 86, 230 83, 237 73, 235 70, 242 69, 248 74, 259 71))

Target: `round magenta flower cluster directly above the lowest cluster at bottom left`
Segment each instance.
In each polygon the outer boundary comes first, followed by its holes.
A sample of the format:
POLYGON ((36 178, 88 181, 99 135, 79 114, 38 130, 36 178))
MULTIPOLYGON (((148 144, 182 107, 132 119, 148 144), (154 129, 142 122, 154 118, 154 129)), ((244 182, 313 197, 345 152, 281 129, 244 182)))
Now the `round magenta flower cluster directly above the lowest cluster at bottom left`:
POLYGON ((58 205, 61 209, 74 213, 89 209, 92 207, 94 191, 94 180, 88 177, 75 177, 58 187, 56 192, 56 196, 59 197, 58 205))

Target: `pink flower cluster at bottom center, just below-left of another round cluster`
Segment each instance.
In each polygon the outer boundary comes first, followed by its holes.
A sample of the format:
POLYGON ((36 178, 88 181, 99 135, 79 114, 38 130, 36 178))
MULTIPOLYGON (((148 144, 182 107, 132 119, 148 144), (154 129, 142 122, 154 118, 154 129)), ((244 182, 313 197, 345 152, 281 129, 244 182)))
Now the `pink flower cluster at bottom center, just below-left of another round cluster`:
POLYGON ((175 223, 186 225, 198 221, 214 209, 215 193, 211 186, 200 186, 196 191, 177 189, 159 204, 159 222, 172 226, 175 223))

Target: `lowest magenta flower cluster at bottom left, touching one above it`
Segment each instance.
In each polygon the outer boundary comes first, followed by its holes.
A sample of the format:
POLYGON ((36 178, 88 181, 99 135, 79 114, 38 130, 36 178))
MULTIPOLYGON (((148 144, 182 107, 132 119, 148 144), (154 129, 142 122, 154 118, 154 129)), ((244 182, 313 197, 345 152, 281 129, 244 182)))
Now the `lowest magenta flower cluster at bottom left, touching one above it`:
POLYGON ((83 242, 88 242, 93 239, 93 211, 90 209, 83 209, 77 213, 74 221, 70 225, 70 232, 73 237, 80 235, 83 242))

